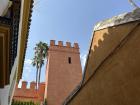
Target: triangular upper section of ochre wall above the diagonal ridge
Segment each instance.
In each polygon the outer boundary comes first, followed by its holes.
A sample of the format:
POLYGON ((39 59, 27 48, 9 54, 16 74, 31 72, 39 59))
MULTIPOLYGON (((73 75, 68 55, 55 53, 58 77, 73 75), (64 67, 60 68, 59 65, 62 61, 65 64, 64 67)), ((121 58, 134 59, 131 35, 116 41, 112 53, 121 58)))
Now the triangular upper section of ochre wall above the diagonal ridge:
POLYGON ((86 62, 83 84, 96 73, 96 70, 106 59, 118 50, 126 40, 131 38, 131 33, 137 28, 137 25, 138 22, 133 22, 94 32, 86 62))

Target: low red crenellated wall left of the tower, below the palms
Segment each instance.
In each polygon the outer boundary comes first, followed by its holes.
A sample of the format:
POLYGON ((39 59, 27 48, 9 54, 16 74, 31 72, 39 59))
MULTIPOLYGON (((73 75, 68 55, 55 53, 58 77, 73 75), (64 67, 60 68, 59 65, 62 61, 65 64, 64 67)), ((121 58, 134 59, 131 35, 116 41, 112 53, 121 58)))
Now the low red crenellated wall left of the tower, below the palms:
POLYGON ((27 84, 27 81, 23 81, 21 88, 18 88, 18 84, 16 85, 13 99, 21 101, 25 99, 26 101, 42 102, 44 100, 45 83, 40 83, 38 89, 35 88, 36 82, 34 81, 30 82, 29 88, 27 88, 27 84))

